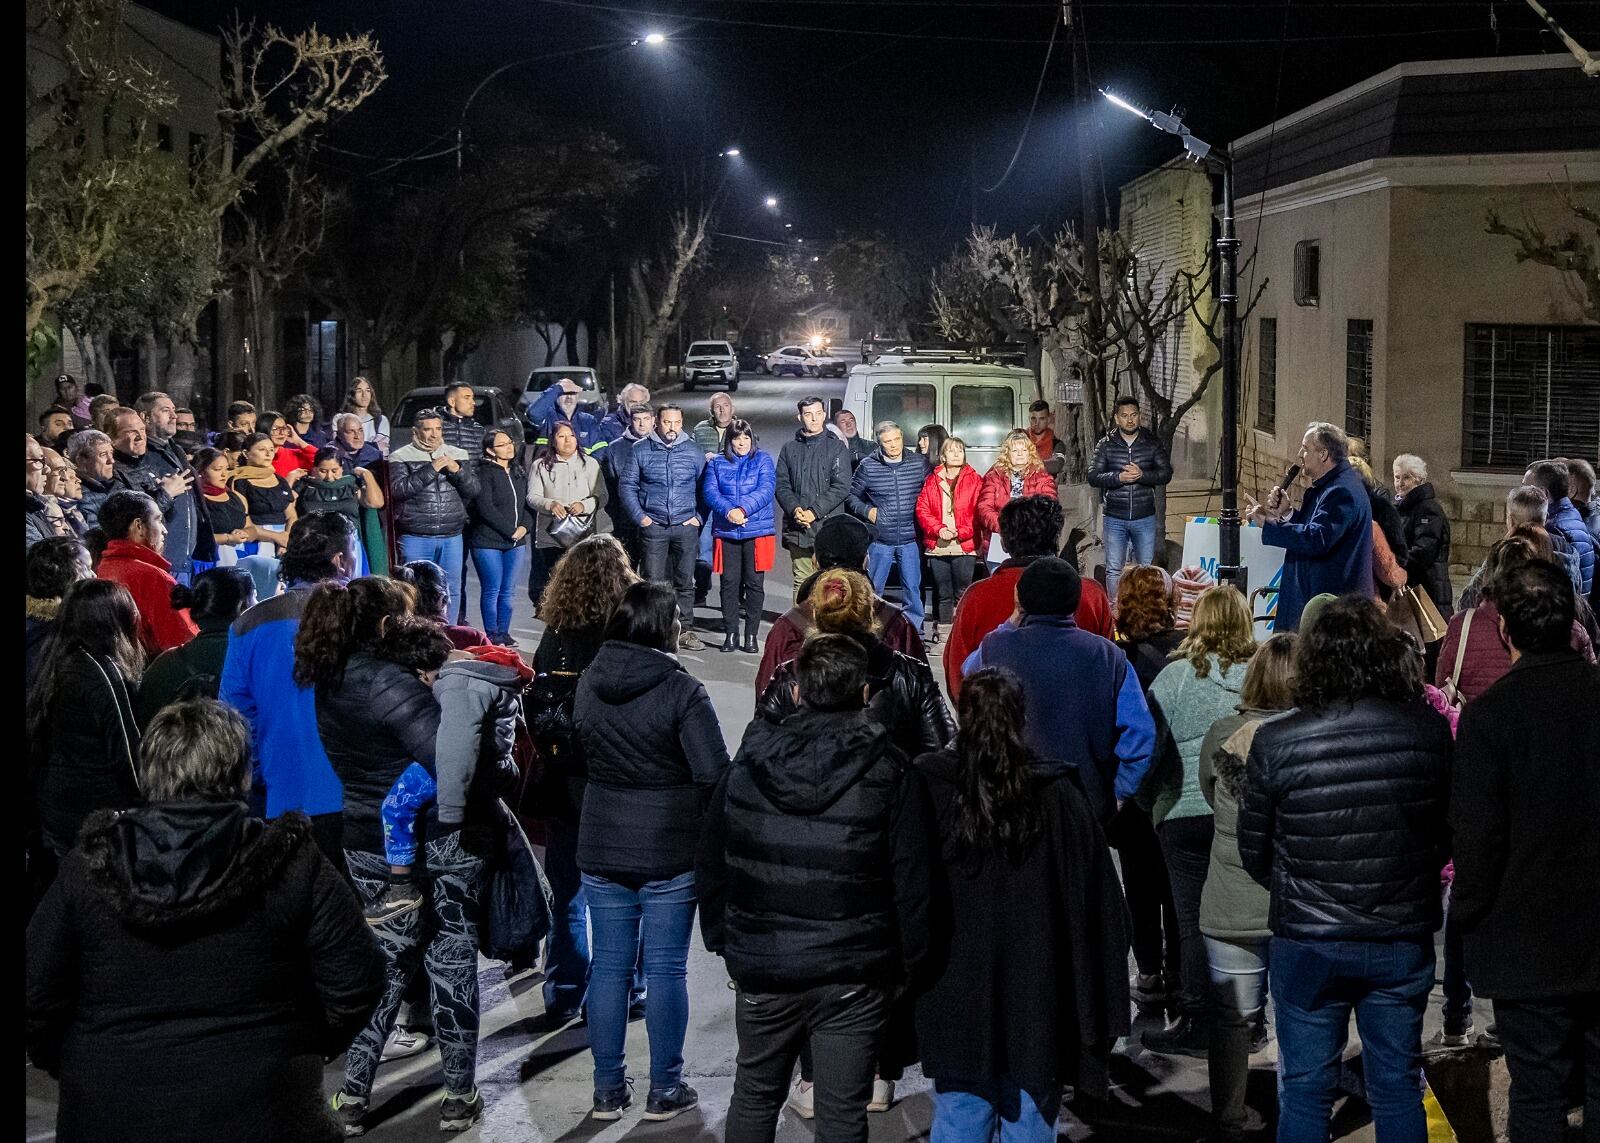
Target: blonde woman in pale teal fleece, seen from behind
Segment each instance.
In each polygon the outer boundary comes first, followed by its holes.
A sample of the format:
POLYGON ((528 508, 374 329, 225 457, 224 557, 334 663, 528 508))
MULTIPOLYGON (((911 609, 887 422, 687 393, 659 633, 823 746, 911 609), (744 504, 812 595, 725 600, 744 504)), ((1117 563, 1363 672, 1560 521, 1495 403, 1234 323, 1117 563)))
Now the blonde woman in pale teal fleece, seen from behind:
POLYGON ((1245 597, 1234 588, 1208 588, 1195 600, 1189 634, 1174 661, 1150 684, 1150 709, 1168 728, 1168 757, 1157 762, 1147 789, 1155 805, 1155 836, 1166 858, 1178 911, 1178 1021, 1144 1037, 1152 1052, 1205 1055, 1211 1005, 1205 944, 1200 940, 1200 892, 1211 860, 1211 807, 1200 792, 1200 746, 1211 725, 1238 706, 1256 637, 1245 597), (1173 757, 1176 756, 1176 757, 1173 757))

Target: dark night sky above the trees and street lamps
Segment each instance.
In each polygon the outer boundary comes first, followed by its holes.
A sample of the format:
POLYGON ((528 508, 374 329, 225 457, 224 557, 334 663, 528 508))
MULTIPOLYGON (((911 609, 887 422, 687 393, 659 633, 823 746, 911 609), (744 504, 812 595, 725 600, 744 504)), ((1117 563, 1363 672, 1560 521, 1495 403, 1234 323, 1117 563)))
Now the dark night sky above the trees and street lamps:
MULTIPOLYGON (((144 2, 200 27, 216 19, 203 0, 144 2)), ((1549 6, 1600 50, 1600 0, 1549 6)), ((730 231, 782 237, 789 219, 789 235, 813 242, 885 231, 950 245, 971 218, 1027 229, 1077 208, 1064 35, 1014 170, 998 190, 982 190, 1000 179, 1027 120, 1059 3, 259 0, 245 11, 378 35, 390 80, 338 131, 350 150, 445 147, 485 75, 554 56, 494 80, 483 104, 595 123, 664 176, 715 179, 726 162, 715 152, 739 146, 730 231), (667 45, 627 43, 650 30, 667 34, 667 45), (779 211, 762 208, 768 194, 779 211)), ((1078 11, 1096 85, 1182 106, 1214 144, 1408 59, 1565 54, 1523 0, 1083 0, 1078 11)), ((1176 154, 1176 141, 1109 106, 1098 114, 1115 202, 1115 186, 1176 154)))

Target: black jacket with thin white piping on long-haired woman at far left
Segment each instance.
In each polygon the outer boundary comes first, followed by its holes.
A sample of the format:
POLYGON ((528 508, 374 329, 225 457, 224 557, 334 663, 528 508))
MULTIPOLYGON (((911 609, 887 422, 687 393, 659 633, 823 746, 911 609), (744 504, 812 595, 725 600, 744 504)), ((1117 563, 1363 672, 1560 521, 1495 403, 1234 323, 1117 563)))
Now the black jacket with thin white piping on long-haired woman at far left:
POLYGON ((34 805, 45 845, 72 848, 94 810, 139 804, 139 724, 128 684, 109 658, 67 653, 34 751, 34 805))

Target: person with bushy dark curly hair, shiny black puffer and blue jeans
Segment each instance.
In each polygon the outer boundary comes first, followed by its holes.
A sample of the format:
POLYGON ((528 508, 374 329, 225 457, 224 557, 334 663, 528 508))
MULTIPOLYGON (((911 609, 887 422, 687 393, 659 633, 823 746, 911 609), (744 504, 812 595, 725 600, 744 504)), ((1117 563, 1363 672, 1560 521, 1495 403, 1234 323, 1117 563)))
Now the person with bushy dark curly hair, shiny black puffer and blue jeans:
POLYGON ((1326 1138, 1354 1010, 1378 1135, 1421 1140, 1450 724, 1411 639, 1350 596, 1301 634, 1294 703, 1256 730, 1238 815, 1240 861, 1272 895, 1278 1138, 1326 1138))

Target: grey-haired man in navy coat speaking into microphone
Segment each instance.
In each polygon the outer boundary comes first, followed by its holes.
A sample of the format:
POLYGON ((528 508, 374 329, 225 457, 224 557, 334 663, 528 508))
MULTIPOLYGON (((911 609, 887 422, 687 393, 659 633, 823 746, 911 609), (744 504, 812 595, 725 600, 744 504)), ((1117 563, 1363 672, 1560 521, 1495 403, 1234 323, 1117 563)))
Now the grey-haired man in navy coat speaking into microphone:
POLYGON ((1312 421, 1301 440, 1310 488, 1299 509, 1282 488, 1266 504, 1245 496, 1245 515, 1261 525, 1262 543, 1286 552, 1274 631, 1296 631, 1312 596, 1373 597, 1373 506, 1349 456, 1344 429, 1312 421))

